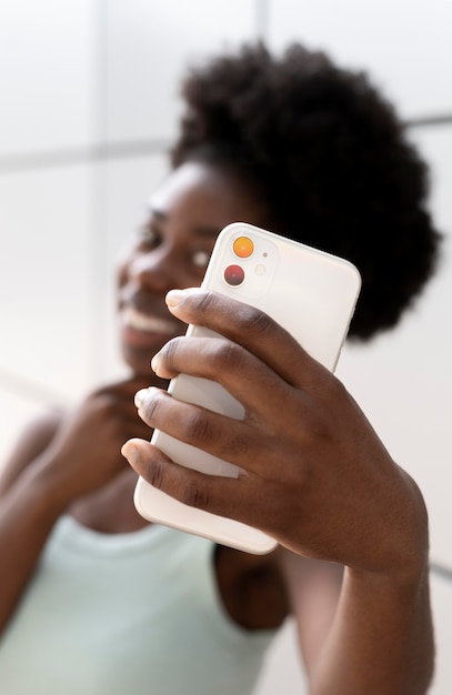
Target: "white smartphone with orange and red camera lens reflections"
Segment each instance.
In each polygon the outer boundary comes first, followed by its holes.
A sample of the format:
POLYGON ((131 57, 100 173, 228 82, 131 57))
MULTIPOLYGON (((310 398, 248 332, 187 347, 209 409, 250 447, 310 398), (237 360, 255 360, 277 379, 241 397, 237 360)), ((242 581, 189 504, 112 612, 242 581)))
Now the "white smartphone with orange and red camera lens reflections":
MULTIPOLYGON (((334 371, 361 288, 356 268, 343 259, 242 222, 220 232, 202 288, 253 305, 282 325, 315 360, 334 371)), ((187 335, 214 332, 190 325, 187 335)), ((250 384, 252 389, 252 384, 250 384)), ((174 399, 242 419, 244 409, 218 383, 180 374, 171 380, 174 399)), ((238 476, 227 461, 155 430, 151 440, 172 461, 212 475, 238 476)), ((147 520, 201 535, 249 553, 273 550, 263 532, 190 507, 139 479, 134 504, 147 520)))

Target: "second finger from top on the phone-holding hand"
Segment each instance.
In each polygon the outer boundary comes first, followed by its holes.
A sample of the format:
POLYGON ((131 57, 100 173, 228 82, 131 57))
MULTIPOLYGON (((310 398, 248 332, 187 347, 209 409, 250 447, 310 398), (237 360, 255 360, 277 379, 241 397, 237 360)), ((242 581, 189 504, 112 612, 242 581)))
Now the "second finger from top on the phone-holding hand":
POLYGON ((223 338, 175 338, 152 360, 152 369, 168 379, 181 372, 220 383, 245 407, 272 422, 293 389, 248 350, 223 338))

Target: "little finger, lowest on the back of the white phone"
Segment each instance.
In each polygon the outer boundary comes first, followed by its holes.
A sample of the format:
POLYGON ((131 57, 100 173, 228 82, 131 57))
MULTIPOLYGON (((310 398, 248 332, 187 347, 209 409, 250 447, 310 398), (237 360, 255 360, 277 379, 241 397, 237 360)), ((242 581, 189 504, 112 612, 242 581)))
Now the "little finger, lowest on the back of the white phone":
POLYGON ((239 479, 199 473, 178 465, 157 446, 138 439, 125 442, 121 453, 142 479, 179 502, 264 527, 268 505, 259 477, 245 473, 239 479))

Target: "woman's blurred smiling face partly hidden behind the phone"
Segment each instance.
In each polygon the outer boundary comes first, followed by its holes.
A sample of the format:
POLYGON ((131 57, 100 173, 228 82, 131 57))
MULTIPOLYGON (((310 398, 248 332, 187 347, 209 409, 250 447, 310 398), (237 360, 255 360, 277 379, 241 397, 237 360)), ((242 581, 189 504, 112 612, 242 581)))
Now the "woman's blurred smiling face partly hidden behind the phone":
POLYGON ((179 167, 151 195, 147 219, 118 272, 121 349, 134 373, 149 375, 150 359, 185 332, 167 310, 167 292, 201 284, 223 226, 264 226, 265 219, 264 205, 251 188, 200 162, 179 167))

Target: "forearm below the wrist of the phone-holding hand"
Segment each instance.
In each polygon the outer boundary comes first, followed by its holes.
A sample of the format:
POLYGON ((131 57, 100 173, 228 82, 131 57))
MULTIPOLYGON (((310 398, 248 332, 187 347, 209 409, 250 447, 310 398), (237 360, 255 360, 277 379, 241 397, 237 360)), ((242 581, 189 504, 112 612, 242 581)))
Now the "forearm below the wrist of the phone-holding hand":
POLYGON ((345 570, 312 695, 423 695, 433 672, 428 568, 393 577, 345 570))

